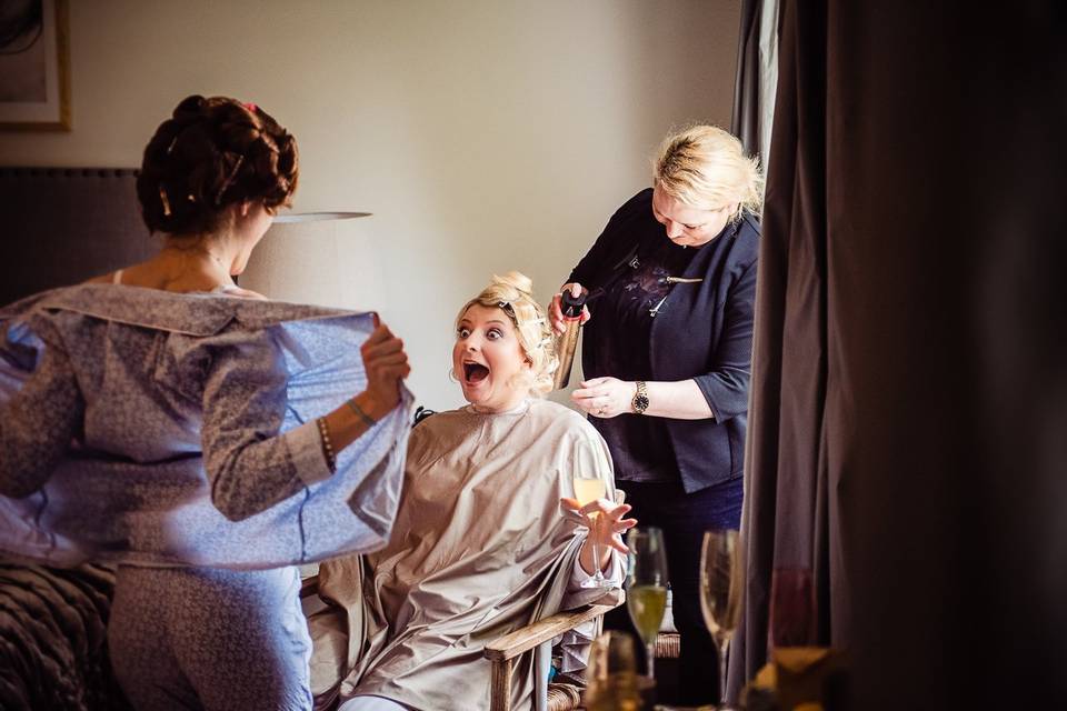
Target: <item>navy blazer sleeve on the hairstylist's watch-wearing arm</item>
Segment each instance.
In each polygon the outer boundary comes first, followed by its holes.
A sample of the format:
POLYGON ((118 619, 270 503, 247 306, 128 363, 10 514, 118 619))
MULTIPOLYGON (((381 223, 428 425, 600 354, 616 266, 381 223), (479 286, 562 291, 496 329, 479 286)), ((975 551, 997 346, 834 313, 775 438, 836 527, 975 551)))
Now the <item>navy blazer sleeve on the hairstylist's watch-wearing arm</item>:
POLYGON ((715 349, 712 369, 694 378, 717 422, 748 411, 756 310, 756 264, 757 262, 752 261, 745 269, 727 296, 722 332, 715 349))

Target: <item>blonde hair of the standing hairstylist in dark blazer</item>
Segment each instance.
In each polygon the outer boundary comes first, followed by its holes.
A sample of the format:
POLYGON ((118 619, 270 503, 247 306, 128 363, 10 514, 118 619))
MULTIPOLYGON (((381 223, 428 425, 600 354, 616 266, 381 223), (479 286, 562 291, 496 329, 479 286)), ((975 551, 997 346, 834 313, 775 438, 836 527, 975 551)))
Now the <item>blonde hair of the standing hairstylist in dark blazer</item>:
POLYGON ((759 217, 764 207, 759 160, 745 156, 739 140, 714 126, 695 126, 664 139, 652 164, 652 187, 701 210, 736 202, 730 220, 744 210, 759 217))

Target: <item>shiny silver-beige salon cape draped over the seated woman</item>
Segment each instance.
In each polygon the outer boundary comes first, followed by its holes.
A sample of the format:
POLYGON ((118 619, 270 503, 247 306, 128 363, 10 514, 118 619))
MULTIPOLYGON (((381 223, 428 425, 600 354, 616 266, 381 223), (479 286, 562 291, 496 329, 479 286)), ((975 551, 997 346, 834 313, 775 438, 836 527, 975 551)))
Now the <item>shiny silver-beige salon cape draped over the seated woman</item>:
MULTIPOLYGON (((578 473, 599 475, 614 497, 604 439, 554 402, 466 408, 416 427, 389 544, 319 570, 331 608, 311 618, 312 688, 339 672, 345 698, 488 709, 487 643, 605 593, 568 589, 586 529, 559 500, 575 495, 578 473)), ((515 709, 532 708, 532 658, 516 660, 515 709)))

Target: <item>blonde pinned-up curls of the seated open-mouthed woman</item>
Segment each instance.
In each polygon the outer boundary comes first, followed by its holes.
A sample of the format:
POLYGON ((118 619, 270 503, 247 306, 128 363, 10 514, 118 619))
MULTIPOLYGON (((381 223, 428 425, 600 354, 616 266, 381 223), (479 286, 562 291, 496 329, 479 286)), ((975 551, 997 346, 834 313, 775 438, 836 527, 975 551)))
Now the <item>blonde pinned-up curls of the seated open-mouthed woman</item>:
POLYGON ((467 309, 476 303, 507 313, 515 324, 519 346, 530 363, 530 393, 544 395, 552 389, 552 373, 559 365, 559 359, 556 358, 551 327, 545 309, 534 300, 532 288, 534 282, 529 277, 517 271, 509 271, 503 277, 493 274, 489 286, 459 310, 456 326, 459 327, 467 309))

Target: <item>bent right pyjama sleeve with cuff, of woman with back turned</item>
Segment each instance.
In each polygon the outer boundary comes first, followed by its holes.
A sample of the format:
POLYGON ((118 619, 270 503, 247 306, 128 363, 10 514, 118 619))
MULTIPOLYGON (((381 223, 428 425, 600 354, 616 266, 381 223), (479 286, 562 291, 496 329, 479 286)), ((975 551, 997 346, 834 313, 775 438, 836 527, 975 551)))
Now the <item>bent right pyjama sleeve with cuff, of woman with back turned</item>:
POLYGON ((203 388, 211 501, 240 521, 330 475, 313 421, 281 433, 288 374, 265 330, 212 350, 203 388))

